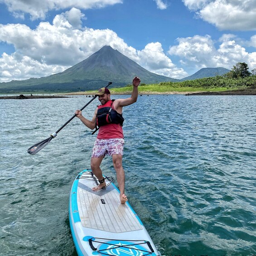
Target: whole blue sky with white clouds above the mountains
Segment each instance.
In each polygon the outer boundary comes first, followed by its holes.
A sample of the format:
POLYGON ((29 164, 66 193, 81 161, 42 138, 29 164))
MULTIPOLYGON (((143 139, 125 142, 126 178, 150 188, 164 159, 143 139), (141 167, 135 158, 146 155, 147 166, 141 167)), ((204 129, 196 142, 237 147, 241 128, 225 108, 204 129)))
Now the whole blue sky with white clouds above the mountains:
POLYGON ((63 72, 104 45, 176 79, 251 71, 256 0, 0 0, 0 82, 63 72))

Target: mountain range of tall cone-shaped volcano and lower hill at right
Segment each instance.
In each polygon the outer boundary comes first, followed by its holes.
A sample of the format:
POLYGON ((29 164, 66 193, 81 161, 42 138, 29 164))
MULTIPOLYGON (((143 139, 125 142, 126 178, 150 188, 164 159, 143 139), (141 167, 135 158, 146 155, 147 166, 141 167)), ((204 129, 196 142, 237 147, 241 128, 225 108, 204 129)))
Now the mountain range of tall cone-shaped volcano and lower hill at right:
POLYGON ((150 72, 110 46, 103 46, 87 59, 63 72, 48 77, 1 82, 0 92, 88 91, 104 87, 108 82, 112 82, 112 87, 124 87, 131 83, 134 76, 139 76, 142 83, 150 84, 212 77, 223 70, 229 72, 226 68, 202 68, 194 75, 179 80, 150 72))

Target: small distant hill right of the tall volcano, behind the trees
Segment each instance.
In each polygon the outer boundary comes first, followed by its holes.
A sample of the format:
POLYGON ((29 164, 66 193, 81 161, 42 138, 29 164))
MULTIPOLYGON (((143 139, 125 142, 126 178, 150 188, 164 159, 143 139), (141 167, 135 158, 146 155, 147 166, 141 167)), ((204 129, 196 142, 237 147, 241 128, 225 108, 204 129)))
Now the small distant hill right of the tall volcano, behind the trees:
POLYGON ((184 77, 180 79, 180 81, 186 80, 195 80, 204 77, 215 77, 215 76, 223 76, 227 72, 230 72, 227 68, 201 68, 198 72, 195 72, 193 75, 184 77))

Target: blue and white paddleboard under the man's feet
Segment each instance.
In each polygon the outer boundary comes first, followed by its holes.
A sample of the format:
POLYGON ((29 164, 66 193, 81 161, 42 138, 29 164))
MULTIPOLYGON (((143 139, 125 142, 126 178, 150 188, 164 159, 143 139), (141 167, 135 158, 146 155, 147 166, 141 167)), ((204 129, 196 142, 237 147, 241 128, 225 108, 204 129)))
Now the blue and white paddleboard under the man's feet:
POLYGON ((90 170, 77 175, 69 198, 69 221, 79 256, 159 256, 148 232, 119 190, 105 177, 106 188, 90 170))

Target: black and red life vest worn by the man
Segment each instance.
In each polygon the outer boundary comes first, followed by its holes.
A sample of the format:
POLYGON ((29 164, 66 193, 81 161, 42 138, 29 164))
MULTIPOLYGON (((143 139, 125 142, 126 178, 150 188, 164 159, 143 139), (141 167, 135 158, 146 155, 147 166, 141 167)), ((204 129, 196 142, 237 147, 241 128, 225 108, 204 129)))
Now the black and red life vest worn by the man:
POLYGON ((97 126, 101 127, 108 124, 120 124, 121 126, 123 126, 123 123, 125 121, 123 115, 112 109, 114 101, 115 100, 110 100, 107 101, 104 105, 98 106, 96 115, 96 130, 98 130, 97 126))

